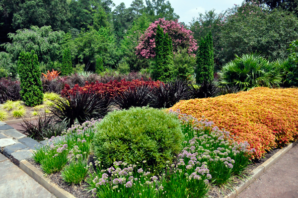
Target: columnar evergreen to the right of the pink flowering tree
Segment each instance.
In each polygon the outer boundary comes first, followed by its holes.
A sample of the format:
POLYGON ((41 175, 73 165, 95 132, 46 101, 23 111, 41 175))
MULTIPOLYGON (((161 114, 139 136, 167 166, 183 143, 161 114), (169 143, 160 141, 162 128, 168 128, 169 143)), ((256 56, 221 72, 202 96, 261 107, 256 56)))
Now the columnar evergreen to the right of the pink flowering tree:
POLYGON ((211 32, 201 39, 199 52, 197 54, 196 82, 202 84, 204 81, 212 81, 214 78, 213 67, 213 41, 211 32))

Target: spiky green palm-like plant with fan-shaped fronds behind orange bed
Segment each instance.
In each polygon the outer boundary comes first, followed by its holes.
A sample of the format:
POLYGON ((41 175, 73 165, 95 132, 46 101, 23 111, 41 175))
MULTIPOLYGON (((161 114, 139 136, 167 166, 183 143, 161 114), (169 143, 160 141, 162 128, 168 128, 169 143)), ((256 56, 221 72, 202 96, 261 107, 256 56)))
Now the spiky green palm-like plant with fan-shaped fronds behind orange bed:
POLYGON ((236 85, 241 90, 279 86, 282 83, 281 68, 259 54, 236 56, 236 59, 223 66, 219 76, 221 84, 236 85))

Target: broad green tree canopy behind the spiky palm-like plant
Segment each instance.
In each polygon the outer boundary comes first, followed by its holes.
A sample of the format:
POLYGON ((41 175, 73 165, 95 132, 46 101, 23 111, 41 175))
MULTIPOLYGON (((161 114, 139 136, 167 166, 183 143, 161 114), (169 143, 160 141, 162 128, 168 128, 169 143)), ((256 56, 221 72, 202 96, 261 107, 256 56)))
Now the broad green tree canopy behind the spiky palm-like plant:
POLYGON ((215 46, 220 64, 252 52, 261 53, 269 61, 286 58, 290 43, 298 38, 298 18, 281 9, 270 11, 255 3, 244 3, 230 10, 224 20, 215 46))

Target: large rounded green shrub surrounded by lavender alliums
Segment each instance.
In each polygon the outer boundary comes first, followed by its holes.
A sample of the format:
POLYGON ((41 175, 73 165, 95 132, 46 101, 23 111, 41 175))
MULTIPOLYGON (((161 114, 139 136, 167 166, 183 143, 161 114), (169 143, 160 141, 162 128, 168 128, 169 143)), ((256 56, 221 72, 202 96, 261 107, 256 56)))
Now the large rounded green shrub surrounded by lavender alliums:
POLYGON ((94 154, 105 168, 114 161, 143 164, 159 172, 182 149, 178 119, 164 110, 130 108, 109 113, 97 126, 94 154))

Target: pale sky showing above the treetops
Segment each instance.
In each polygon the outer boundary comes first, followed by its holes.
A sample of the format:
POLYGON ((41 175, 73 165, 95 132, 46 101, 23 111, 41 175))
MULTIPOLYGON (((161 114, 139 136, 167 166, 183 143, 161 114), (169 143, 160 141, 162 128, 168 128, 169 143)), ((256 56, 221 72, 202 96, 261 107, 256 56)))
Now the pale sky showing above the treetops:
MULTIPOLYGON (((121 2, 129 7, 133 0, 113 0, 119 5, 121 2)), ((146 5, 145 0, 144 4, 146 5)), ((174 12, 180 16, 179 22, 189 24, 193 17, 198 17, 199 13, 205 13, 205 10, 215 9, 217 13, 231 8, 234 4, 241 4, 243 0, 169 0, 174 12)))

